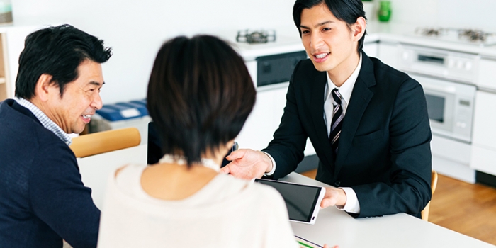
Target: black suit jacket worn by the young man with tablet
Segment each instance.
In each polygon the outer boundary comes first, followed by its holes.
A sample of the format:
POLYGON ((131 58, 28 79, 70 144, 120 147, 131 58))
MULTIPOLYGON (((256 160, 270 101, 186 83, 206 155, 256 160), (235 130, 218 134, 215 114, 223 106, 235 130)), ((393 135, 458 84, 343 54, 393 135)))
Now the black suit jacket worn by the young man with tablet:
POLYGON ((361 208, 354 217, 419 217, 431 199, 432 171, 432 135, 422 86, 362 52, 334 156, 323 117, 326 73, 318 72, 310 60, 295 67, 281 125, 264 149, 276 161, 274 178, 296 169, 310 137, 320 159, 316 179, 353 188, 361 208))

